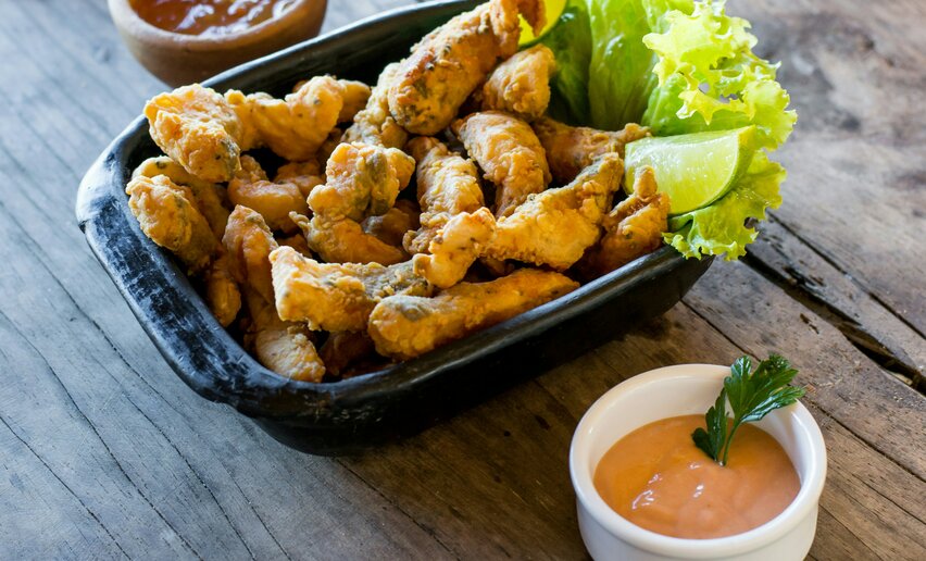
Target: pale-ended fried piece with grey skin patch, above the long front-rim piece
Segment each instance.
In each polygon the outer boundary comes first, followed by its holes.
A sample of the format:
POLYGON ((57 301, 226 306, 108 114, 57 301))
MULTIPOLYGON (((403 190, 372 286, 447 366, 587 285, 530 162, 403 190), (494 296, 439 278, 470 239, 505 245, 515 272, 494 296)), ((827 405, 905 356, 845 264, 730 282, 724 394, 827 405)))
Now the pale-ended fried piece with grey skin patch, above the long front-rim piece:
POLYGON ((381 299, 398 294, 429 294, 410 262, 318 263, 281 247, 270 255, 276 310, 280 319, 305 322, 312 329, 360 332, 381 299))

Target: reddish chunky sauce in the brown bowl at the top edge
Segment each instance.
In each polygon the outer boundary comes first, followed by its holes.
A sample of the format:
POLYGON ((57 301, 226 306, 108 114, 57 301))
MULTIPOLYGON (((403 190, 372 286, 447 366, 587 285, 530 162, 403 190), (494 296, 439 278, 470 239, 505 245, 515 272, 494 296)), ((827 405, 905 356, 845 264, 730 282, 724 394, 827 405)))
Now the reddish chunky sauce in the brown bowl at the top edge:
POLYGON ((142 20, 174 33, 224 36, 278 17, 296 0, 130 0, 142 20))

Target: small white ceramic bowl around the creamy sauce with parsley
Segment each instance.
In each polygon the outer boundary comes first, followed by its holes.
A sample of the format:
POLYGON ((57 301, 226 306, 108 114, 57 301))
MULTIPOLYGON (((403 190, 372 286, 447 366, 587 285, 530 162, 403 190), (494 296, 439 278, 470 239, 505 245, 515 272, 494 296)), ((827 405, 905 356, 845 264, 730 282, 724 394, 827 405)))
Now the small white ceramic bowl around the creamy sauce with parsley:
POLYGON ((583 416, 573 436, 570 472, 579 531, 591 557, 599 561, 788 561, 806 556, 826 478, 826 448, 819 427, 801 403, 773 411, 756 424, 781 444, 798 471, 801 489, 780 514, 749 532, 713 539, 663 536, 622 518, 595 488, 595 469, 614 442, 660 419, 706 412, 729 372, 729 366, 711 364, 653 370, 612 388, 583 416))

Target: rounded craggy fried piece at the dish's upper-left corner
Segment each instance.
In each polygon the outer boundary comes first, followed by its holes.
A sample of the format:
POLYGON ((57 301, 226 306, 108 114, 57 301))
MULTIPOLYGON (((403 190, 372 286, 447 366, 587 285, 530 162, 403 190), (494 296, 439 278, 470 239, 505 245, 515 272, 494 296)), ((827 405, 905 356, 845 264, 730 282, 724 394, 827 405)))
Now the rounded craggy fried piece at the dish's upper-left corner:
POLYGON ((238 170, 245 126, 216 91, 192 84, 161 94, 145 116, 161 150, 200 179, 227 182, 238 170))

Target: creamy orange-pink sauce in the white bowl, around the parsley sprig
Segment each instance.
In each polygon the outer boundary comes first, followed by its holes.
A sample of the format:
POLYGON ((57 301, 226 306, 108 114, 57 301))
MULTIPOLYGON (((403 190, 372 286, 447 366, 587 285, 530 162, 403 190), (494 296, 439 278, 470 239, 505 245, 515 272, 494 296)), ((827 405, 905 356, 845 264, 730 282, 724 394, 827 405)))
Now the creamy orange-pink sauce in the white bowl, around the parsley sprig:
POLYGON ((741 534, 774 519, 800 489, 788 454, 772 436, 740 425, 721 466, 694 446, 703 415, 650 423, 618 440, 595 470, 595 488, 634 524, 680 538, 741 534))

